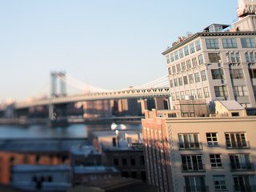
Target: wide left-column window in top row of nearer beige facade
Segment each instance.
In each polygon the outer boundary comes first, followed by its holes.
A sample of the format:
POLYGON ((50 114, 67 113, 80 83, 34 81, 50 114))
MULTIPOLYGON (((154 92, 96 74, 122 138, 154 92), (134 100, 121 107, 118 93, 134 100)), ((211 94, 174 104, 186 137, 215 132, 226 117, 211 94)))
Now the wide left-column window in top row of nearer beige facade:
POLYGON ((178 134, 179 150, 202 150, 198 134, 178 134))

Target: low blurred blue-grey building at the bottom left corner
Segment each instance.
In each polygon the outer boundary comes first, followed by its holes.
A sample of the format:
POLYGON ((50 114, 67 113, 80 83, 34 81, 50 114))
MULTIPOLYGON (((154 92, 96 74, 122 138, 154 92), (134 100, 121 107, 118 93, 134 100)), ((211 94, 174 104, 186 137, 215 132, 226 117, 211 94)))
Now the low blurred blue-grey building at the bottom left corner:
POLYGON ((72 186, 71 167, 13 166, 10 185, 25 191, 66 191, 72 186))

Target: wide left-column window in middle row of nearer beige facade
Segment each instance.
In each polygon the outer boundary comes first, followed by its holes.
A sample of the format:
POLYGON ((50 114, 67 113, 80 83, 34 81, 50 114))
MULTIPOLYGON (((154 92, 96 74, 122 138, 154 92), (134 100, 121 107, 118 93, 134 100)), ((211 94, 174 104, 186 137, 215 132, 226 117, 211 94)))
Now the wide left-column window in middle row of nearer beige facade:
POLYGON ((183 171, 204 171, 202 165, 202 155, 182 155, 182 170, 183 171))

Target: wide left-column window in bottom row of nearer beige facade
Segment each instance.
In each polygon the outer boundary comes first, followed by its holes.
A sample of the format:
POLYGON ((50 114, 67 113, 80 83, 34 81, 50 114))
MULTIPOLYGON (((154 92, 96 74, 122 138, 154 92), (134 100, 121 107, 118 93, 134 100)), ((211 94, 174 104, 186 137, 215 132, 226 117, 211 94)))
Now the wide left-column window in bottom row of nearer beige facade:
POLYGON ((207 191, 204 176, 185 176, 184 178, 186 192, 207 191))

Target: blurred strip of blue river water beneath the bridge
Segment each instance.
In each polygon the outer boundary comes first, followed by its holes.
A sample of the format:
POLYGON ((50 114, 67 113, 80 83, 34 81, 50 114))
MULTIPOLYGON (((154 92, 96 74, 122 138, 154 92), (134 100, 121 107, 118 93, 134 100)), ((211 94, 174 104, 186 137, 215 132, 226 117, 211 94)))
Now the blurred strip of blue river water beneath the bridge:
MULTIPOLYGON (((117 124, 116 129, 141 130, 140 123, 117 124)), ((0 138, 89 138, 94 130, 111 130, 111 123, 73 124, 67 127, 33 126, 0 126, 0 138)))

